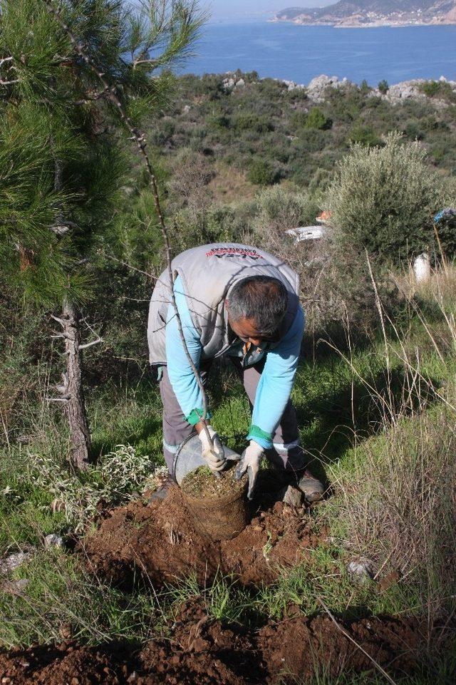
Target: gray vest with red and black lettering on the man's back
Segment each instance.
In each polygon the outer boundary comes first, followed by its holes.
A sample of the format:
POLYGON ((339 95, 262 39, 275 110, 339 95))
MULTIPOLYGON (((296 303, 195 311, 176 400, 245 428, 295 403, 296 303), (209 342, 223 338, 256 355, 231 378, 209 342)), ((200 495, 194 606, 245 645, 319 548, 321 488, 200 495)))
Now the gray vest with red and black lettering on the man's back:
MULTIPOLYGON (((182 279, 193 325, 202 344, 202 359, 221 356, 229 347, 228 316, 224 306, 238 281, 252 276, 279 279, 289 294, 281 335, 288 331, 299 299, 299 276, 278 257, 262 249, 233 242, 219 242, 187 249, 172 260, 172 277, 182 279)), ((147 340, 150 364, 166 364, 165 326, 170 305, 167 271, 157 280, 150 300, 147 340)))

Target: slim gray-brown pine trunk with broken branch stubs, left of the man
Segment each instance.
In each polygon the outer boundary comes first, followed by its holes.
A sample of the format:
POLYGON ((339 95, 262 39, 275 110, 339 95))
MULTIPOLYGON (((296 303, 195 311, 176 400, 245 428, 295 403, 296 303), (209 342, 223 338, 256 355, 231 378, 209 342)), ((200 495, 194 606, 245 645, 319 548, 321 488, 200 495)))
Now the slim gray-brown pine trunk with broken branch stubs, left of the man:
POLYGON ((63 304, 63 335, 66 351, 66 415, 70 428, 71 461, 76 468, 86 469, 89 463, 90 433, 82 383, 82 358, 79 314, 73 304, 63 304))

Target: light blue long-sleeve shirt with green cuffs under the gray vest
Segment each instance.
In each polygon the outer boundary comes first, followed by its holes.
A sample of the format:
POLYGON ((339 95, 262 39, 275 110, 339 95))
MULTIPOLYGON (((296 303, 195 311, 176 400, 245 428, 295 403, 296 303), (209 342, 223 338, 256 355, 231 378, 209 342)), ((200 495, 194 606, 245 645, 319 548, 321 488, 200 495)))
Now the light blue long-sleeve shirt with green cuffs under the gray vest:
MULTIPOLYGON (((202 345, 187 307, 180 277, 175 280, 174 292, 187 350, 198 368, 202 345)), ((266 361, 255 396, 252 425, 247 436, 247 440, 254 440, 265 449, 272 446, 274 432, 293 388, 303 334, 304 312, 299 306, 284 338, 275 347, 266 350, 266 361)), ((234 345, 227 354, 238 356, 241 347, 234 345)), ((180 408, 189 423, 198 423, 202 416, 202 393, 182 346, 171 304, 167 312, 166 357, 168 376, 180 408)), ((261 357, 257 356, 258 359, 261 357)))

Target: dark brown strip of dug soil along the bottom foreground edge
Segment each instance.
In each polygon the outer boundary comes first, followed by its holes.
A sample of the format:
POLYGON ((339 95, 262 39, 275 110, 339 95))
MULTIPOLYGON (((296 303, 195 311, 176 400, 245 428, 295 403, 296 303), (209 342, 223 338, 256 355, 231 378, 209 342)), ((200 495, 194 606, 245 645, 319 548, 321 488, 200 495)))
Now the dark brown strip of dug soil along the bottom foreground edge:
MULTIPOLYGON (((423 644, 418 620, 363 619, 345 627, 388 672, 415 670, 423 644)), ((149 642, 137 654, 121 644, 17 650, 0 654, 0 677, 11 685, 291 685, 318 665, 333 676, 375 670, 329 618, 297 616, 256 631, 211 621, 189 604, 170 639, 149 642)))

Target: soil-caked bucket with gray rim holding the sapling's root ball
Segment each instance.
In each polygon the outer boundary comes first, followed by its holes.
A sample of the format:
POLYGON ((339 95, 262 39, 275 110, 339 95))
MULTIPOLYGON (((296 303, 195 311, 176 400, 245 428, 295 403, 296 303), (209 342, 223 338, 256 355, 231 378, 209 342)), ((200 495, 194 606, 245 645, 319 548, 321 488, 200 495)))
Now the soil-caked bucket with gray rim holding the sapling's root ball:
MULTIPOLYGON (((239 455, 225 445, 227 458, 239 460, 239 455)), ((201 456, 201 443, 198 436, 190 436, 180 445, 174 460, 174 477, 178 485, 187 473, 204 466, 201 456)), ((195 528, 204 537, 211 540, 231 540, 239 535, 249 522, 249 503, 247 500, 247 483, 240 492, 237 491, 222 498, 195 498, 182 491, 187 508, 192 515, 195 528)))

